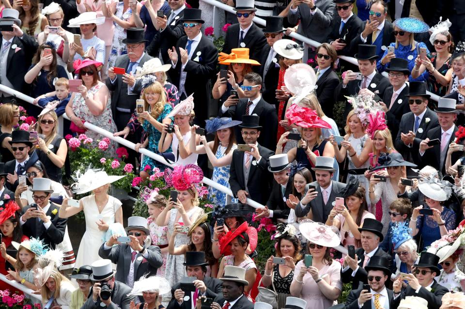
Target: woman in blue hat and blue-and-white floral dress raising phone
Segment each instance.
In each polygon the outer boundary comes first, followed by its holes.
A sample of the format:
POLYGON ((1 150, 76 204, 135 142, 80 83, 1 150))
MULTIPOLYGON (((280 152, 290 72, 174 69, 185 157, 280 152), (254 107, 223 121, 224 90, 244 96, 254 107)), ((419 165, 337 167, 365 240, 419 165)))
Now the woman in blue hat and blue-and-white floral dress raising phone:
MULTIPOLYGON (((229 188, 229 169, 233 161, 233 151, 237 148, 234 128, 241 124, 242 121, 233 120, 232 118, 214 118, 205 120, 205 130, 207 133, 215 134, 215 140, 207 142, 205 135, 200 136, 202 145, 196 146, 197 133, 199 126, 194 125, 191 128, 191 138, 189 141, 189 150, 192 153, 204 154, 213 165, 212 180, 229 188)), ((215 188, 210 188, 209 199, 214 205, 226 205, 226 193, 215 188)))

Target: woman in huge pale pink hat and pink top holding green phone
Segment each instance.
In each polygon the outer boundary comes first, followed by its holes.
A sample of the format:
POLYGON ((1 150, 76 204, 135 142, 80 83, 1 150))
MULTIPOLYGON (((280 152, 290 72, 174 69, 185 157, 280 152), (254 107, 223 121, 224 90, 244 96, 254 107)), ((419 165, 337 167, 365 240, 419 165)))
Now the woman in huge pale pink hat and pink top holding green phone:
POLYGON ((307 252, 312 261, 306 265, 301 260, 295 266, 291 295, 312 304, 311 308, 329 308, 342 291, 341 263, 329 254, 332 247, 341 243, 341 235, 335 227, 320 222, 301 223, 300 233, 308 240, 307 252))

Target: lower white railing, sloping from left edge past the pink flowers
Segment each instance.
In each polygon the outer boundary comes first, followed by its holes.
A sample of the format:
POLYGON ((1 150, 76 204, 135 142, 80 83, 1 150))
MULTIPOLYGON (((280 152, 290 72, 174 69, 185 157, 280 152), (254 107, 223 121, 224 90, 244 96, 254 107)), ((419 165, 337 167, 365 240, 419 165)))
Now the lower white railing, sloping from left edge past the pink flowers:
MULTIPOLYGON (((28 103, 31 103, 31 104, 34 101, 34 99, 31 98, 30 96, 27 96, 24 93, 21 93, 19 91, 16 91, 15 89, 8 88, 8 87, 6 87, 4 85, 0 85, 0 91, 8 93, 8 94, 10 94, 12 96, 15 96, 18 99, 21 99, 21 100, 23 100, 25 102, 28 102, 28 103)), ((63 114, 63 117, 70 120, 66 116, 66 114, 63 114)), ((97 133, 99 133, 99 134, 101 134, 101 135, 103 135, 105 137, 108 137, 110 140, 113 140, 113 141, 115 141, 115 142, 117 142, 117 143, 119 143, 121 145, 124 145, 124 146, 126 146, 128 148, 131 148, 131 149, 135 150, 136 144, 134 144, 134 143, 132 143, 132 142, 130 142, 128 140, 125 140, 123 137, 113 136, 113 132, 108 132, 108 131, 100 128, 100 127, 97 127, 97 126, 93 125, 92 123, 87 122, 87 121, 84 123, 84 126, 88 130, 91 130, 93 132, 97 132, 97 133)), ((156 153, 154 153, 154 152, 152 152, 152 151, 150 151, 148 149, 140 148, 139 152, 141 154, 145 155, 145 156, 148 156, 148 157, 158 161, 158 162, 161 162, 161 163, 163 163, 165 165, 173 167, 173 165, 168 164, 168 162, 166 162, 165 159, 162 156, 160 156, 160 155, 158 155, 158 154, 156 154, 156 153)), ((217 189, 217 190, 219 190, 219 191, 221 191, 223 193, 226 193, 229 196, 233 196, 233 192, 231 191, 231 189, 229 189, 229 188, 227 188, 227 187, 225 187, 223 185, 220 185, 219 183, 216 183, 215 181, 213 181, 210 178, 203 177, 203 183, 210 186, 210 187, 212 187, 212 188, 215 188, 215 189, 217 189)), ((255 208, 263 208, 264 207, 262 204, 257 203, 254 200, 251 200, 249 198, 247 199, 247 204, 252 206, 252 207, 255 207, 255 208)))

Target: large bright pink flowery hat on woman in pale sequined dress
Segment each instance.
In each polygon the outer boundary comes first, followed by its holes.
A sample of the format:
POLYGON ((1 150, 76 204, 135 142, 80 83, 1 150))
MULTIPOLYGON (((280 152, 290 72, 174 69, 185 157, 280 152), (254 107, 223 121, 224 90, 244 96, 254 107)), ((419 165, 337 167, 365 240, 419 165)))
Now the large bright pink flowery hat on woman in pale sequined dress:
POLYGON ((165 169, 166 184, 179 191, 187 190, 202 180, 202 169, 195 164, 177 165, 172 170, 165 169))

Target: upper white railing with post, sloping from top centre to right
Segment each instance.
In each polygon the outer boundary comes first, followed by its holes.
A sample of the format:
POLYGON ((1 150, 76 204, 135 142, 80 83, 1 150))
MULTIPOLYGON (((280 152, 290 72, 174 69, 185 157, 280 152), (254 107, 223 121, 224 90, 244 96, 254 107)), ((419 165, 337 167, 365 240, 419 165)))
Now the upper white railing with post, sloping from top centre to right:
MULTIPOLYGON (((224 4, 223 2, 218 2, 217 0, 200 0, 202 2, 205 2, 205 3, 208 3, 210 5, 213 5, 215 7, 215 13, 217 12, 217 9, 222 9, 224 11, 227 11, 227 12, 230 12, 230 13, 233 13, 235 14, 236 12, 233 10, 233 8, 227 4, 224 4)), ((216 36, 219 35, 220 33, 220 29, 223 25, 219 25, 218 24, 218 15, 217 14, 214 14, 214 21, 213 21, 213 28, 214 28, 214 33, 216 36)), ((262 26, 265 26, 266 25, 266 21, 260 17, 253 17, 253 21, 256 23, 256 24, 259 24, 259 25, 262 25, 262 26)), ((284 29, 284 28, 283 28, 284 29)), ((308 37, 305 37, 301 34, 298 34, 297 32, 291 32, 291 34, 289 34, 289 36, 293 37, 294 39, 297 39, 305 44, 308 44, 309 46, 311 47, 318 47, 321 45, 320 42, 317 42, 317 41, 314 41, 314 40, 311 40, 309 39, 308 37)), ((357 62, 357 59, 353 58, 353 57, 347 57, 347 56, 338 56, 338 58, 344 60, 344 61, 347 61, 351 64, 354 64, 354 65, 358 65, 358 62, 357 62)), ((387 72, 383 72, 382 73, 383 76, 386 76, 387 77, 387 72)), ((427 94, 431 95, 431 100, 434 100, 434 101, 438 101, 439 100, 439 96, 432 93, 432 92, 429 92, 429 91, 426 91, 427 94)))

